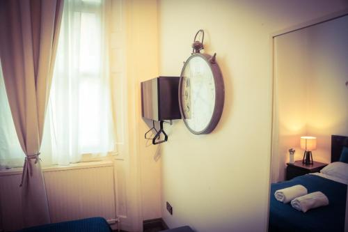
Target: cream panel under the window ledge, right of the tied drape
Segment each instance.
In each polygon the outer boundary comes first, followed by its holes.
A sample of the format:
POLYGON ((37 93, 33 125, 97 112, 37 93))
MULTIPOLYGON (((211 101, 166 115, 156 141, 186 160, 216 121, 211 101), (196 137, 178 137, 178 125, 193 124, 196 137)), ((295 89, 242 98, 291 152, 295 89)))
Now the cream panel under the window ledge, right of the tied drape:
POLYGON ((52 222, 116 217, 113 167, 51 171, 45 183, 52 222))

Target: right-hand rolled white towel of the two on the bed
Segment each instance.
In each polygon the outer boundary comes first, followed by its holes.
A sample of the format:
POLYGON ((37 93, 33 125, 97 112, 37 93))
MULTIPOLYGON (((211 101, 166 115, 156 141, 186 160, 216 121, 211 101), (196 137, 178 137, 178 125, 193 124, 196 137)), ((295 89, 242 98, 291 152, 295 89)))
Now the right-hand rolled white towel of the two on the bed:
POLYGON ((296 210, 307 212, 311 208, 329 205, 329 199, 322 192, 312 192, 310 194, 299 196, 291 201, 291 206, 296 210))

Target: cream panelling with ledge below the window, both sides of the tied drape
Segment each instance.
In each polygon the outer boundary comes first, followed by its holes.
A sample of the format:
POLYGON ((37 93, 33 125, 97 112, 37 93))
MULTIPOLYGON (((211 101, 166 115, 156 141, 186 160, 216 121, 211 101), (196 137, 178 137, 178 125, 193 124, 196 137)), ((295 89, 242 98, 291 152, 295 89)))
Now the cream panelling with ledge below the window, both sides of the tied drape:
MULTIPOLYGON (((116 219, 113 162, 43 169, 52 222, 86 217, 116 219)), ((22 229, 19 171, 0 176, 0 229, 22 229)))

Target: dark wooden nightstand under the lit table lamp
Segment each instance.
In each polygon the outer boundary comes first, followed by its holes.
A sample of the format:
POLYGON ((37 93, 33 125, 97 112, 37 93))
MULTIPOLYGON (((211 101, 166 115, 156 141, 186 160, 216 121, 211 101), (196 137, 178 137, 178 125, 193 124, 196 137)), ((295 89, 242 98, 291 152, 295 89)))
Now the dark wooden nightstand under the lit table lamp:
POLYGON ((327 164, 313 162, 313 164, 302 164, 302 160, 296 160, 294 164, 287 163, 286 180, 291 180, 296 176, 302 176, 308 173, 315 173, 324 168, 327 164))

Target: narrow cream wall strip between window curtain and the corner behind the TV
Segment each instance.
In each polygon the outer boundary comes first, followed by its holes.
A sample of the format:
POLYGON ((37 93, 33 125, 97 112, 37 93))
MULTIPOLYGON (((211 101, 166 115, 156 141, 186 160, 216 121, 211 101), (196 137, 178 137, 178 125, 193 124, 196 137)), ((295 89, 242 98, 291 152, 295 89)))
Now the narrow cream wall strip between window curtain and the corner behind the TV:
POLYGON ((116 121, 117 214, 121 229, 141 231, 161 217, 161 160, 143 135, 140 82, 158 76, 156 0, 111 1, 111 93, 116 121), (125 59, 126 58, 126 59, 125 59), (120 86, 122 86, 120 88, 120 86))

